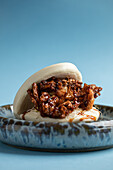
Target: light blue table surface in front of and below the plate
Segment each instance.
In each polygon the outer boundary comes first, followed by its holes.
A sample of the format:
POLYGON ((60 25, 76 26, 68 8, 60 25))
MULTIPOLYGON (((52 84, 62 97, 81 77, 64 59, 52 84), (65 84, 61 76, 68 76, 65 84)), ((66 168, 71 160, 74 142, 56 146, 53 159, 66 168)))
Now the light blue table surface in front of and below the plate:
POLYGON ((113 169, 113 148, 94 152, 49 153, 16 149, 0 143, 0 169, 113 169))

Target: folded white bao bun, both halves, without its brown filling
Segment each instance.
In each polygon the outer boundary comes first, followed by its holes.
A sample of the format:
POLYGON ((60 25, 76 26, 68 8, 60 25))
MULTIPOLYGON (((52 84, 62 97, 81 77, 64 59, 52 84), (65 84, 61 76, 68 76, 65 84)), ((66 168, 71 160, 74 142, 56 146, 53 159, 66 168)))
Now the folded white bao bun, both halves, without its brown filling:
POLYGON ((32 87, 34 82, 40 83, 42 80, 47 80, 51 77, 56 78, 74 78, 79 82, 82 82, 82 76, 77 67, 71 63, 60 63, 46 67, 28 78, 25 83, 20 87, 14 99, 13 107, 15 117, 22 119, 23 113, 28 111, 24 118, 28 121, 37 122, 79 122, 79 121, 93 121, 98 120, 99 111, 94 107, 88 111, 80 108, 75 109, 72 113, 66 116, 64 119, 54 119, 49 117, 42 117, 40 112, 33 108, 33 104, 28 96, 27 90, 32 87), (82 114, 80 114, 82 112, 82 114), (94 118, 92 120, 92 117, 94 118))

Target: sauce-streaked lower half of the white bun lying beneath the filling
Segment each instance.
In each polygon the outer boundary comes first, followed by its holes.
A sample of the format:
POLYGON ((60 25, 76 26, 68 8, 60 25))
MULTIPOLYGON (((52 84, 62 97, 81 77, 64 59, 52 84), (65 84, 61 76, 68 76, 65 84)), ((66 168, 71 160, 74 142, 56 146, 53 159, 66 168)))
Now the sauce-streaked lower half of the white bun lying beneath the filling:
MULTIPOLYGON (((88 111, 82 110, 80 108, 75 109, 72 113, 66 116, 63 119, 54 119, 49 117, 42 117, 40 112, 36 109, 31 109, 24 115, 24 119, 27 121, 34 122, 91 122, 97 121, 99 118, 100 112, 96 108, 92 108, 88 111)), ((20 115, 20 119, 22 119, 23 114, 20 115)))

